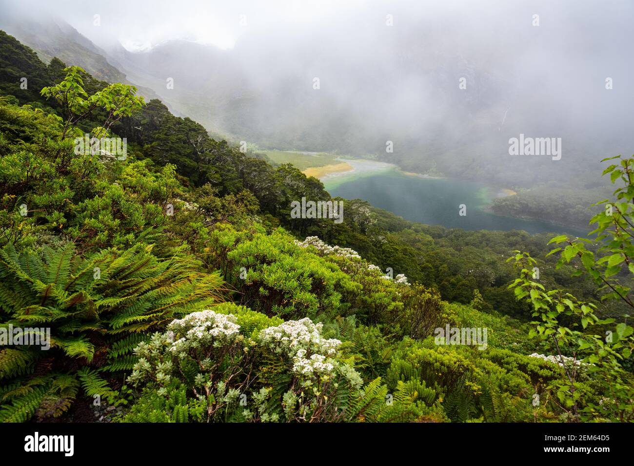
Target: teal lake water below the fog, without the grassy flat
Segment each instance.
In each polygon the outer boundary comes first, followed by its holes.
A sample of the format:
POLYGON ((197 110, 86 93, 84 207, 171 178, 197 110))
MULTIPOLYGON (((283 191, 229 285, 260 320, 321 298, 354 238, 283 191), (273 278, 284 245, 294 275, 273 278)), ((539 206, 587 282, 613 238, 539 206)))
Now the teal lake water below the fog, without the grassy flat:
MULTIPOLYGON (((323 179, 332 196, 364 199, 406 220, 427 225, 443 225, 465 230, 526 230, 529 233, 568 233, 583 236, 587 231, 541 220, 496 215, 486 210, 498 190, 474 182, 430 179, 404 175, 398 170, 377 173, 350 173, 323 179), (458 215, 460 205, 467 215, 458 215)), ((345 214, 344 214, 345 215, 345 214)))

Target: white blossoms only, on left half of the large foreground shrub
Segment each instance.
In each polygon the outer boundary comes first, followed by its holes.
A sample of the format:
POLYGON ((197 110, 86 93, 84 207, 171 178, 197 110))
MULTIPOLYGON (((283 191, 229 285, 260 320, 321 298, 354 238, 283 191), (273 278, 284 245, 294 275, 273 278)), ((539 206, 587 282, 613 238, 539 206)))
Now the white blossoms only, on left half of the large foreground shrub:
POLYGON ((168 337, 174 338, 174 334, 182 335, 178 340, 172 341, 170 351, 181 353, 189 348, 206 346, 235 341, 240 334, 240 325, 236 324, 237 318, 233 314, 219 314, 212 310, 192 312, 184 318, 173 320, 167 326, 168 337))

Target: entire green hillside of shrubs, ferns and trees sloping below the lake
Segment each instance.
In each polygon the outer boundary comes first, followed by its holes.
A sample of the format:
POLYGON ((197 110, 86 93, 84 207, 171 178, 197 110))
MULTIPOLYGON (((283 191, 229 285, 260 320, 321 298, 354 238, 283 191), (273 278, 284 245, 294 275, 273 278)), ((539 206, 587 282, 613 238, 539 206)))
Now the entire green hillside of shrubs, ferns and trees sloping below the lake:
POLYGON ((73 65, 0 31, 3 422, 634 420, 633 158, 588 238, 445 229, 73 65))

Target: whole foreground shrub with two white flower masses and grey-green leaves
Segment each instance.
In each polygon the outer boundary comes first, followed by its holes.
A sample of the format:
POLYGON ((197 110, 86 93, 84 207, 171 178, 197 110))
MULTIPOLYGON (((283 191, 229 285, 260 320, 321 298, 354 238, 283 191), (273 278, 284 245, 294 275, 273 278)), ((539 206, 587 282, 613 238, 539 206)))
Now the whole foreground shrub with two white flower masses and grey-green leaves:
POLYGON ((347 420, 363 381, 322 324, 281 322, 233 303, 217 311, 174 320, 138 345, 129 381, 143 391, 124 420, 347 420))

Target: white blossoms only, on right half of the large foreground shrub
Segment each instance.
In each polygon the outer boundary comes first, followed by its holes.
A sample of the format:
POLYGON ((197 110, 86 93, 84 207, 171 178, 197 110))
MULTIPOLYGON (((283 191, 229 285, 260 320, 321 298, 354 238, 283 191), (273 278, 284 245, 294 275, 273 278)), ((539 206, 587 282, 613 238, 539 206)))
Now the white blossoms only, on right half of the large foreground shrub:
POLYGON ((333 358, 341 341, 323 338, 323 324, 313 324, 308 317, 288 320, 277 327, 268 327, 260 332, 262 343, 276 353, 285 353, 293 360, 293 372, 301 375, 328 375, 338 372, 344 375, 353 387, 359 388, 363 381, 351 367, 339 364, 333 358))

